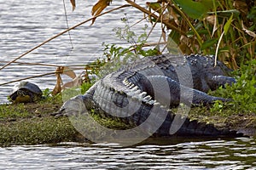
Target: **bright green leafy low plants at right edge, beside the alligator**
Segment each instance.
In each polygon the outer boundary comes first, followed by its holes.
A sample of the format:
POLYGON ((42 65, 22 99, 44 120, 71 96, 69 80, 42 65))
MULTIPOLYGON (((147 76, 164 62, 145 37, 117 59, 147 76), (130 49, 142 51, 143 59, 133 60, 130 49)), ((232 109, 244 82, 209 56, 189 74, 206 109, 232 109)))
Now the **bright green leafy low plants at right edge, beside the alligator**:
POLYGON ((235 112, 253 112, 256 113, 256 59, 247 62, 247 65, 241 66, 241 69, 234 71, 234 77, 237 82, 232 86, 226 85, 212 92, 224 98, 230 98, 227 104, 216 102, 212 111, 223 111, 231 109, 235 112))

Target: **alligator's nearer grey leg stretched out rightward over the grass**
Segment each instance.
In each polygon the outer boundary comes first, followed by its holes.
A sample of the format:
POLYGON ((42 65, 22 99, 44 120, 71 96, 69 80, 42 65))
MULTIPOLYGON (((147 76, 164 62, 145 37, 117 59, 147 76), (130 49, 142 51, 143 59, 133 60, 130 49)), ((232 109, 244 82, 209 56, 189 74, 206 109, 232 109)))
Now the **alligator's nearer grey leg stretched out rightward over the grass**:
POLYGON ((218 98, 208 95, 194 88, 184 87, 178 82, 165 76, 147 77, 153 87, 154 99, 160 102, 161 105, 169 105, 173 107, 184 103, 185 105, 207 105, 212 104, 216 100, 229 101, 230 99, 218 98), (168 102, 169 101, 169 102, 168 102))

